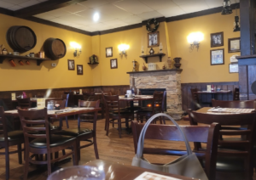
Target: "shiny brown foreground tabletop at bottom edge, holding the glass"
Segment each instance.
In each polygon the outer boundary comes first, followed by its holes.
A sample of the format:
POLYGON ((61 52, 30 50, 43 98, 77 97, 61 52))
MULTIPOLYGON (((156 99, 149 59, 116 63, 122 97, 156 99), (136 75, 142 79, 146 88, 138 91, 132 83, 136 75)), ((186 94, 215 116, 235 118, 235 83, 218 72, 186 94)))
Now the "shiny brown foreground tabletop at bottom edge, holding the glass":
MULTIPOLYGON (((103 166, 104 172, 105 172, 105 179, 112 179, 112 180, 131 180, 135 179, 136 177, 140 176, 143 172, 153 172, 160 175, 167 176, 169 178, 166 178, 166 180, 191 180, 195 178, 190 177, 183 177, 178 176, 175 174, 170 174, 167 172, 158 172, 153 171, 149 169, 144 169, 137 166, 128 166, 128 165, 122 165, 115 162, 110 162, 107 160, 93 160, 88 162, 87 164, 84 164, 84 166, 103 166)), ((164 178, 163 178, 164 179, 164 178)))

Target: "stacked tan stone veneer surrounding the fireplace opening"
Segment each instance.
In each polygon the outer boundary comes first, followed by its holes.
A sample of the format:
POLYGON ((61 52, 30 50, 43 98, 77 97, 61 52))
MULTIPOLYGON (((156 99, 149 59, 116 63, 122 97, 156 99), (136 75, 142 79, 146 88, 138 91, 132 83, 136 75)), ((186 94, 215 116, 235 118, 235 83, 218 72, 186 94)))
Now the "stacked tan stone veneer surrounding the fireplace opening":
POLYGON ((134 78, 134 86, 137 89, 166 88, 166 114, 171 115, 175 120, 180 120, 183 114, 181 72, 182 69, 171 69, 133 71, 127 74, 130 74, 130 87, 134 78))

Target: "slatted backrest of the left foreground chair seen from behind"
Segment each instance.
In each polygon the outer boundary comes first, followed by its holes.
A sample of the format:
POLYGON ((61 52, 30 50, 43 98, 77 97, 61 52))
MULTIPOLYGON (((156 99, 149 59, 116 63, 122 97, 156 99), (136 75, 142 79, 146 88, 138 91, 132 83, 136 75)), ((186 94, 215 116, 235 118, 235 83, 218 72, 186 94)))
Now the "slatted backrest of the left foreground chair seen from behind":
POLYGON ((49 149, 49 121, 47 115, 47 108, 44 108, 42 110, 23 110, 18 108, 18 113, 24 132, 26 146, 28 146, 29 144, 29 138, 46 138, 47 149, 49 149), (33 125, 44 126, 33 127, 33 125))

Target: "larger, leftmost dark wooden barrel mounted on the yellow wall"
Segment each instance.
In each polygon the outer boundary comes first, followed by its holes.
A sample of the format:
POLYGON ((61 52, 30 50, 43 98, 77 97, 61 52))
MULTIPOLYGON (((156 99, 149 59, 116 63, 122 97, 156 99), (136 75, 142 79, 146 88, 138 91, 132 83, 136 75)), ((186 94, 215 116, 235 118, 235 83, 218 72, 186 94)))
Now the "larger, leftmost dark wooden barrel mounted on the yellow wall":
POLYGON ((37 44, 37 36, 31 28, 27 26, 11 26, 6 34, 9 47, 14 51, 24 53, 31 50, 37 44))

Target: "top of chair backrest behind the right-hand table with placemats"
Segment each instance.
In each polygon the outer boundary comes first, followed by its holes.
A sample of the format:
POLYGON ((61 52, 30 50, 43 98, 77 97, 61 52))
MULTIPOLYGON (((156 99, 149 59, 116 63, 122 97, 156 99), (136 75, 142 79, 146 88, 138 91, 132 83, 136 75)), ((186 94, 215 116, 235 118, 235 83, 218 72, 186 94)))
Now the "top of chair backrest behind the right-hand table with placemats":
POLYGON ((212 98, 212 106, 213 107, 221 107, 221 108, 242 108, 242 109, 253 109, 255 108, 254 100, 247 101, 221 101, 215 100, 212 98))

